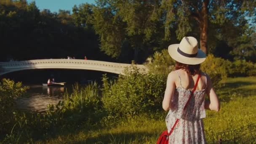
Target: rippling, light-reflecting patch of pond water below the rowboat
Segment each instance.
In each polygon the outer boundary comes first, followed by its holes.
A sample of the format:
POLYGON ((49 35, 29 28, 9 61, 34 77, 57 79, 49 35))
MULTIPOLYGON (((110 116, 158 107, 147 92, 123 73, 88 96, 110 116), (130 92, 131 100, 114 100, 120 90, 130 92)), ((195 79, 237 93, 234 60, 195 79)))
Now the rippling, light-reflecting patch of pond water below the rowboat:
POLYGON ((44 112, 48 104, 58 104, 64 95, 66 87, 47 87, 29 85, 28 97, 18 99, 15 108, 21 111, 44 112))

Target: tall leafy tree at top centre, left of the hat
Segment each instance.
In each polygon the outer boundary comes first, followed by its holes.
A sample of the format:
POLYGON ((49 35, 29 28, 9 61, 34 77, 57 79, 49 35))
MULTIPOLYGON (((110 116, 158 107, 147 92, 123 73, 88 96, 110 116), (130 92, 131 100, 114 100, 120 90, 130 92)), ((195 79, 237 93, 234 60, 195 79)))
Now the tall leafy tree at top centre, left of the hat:
POLYGON ((160 0, 117 1, 117 14, 125 22, 126 39, 134 50, 134 60, 138 61, 139 51, 147 53, 158 43, 156 34, 163 32, 160 19, 160 0))

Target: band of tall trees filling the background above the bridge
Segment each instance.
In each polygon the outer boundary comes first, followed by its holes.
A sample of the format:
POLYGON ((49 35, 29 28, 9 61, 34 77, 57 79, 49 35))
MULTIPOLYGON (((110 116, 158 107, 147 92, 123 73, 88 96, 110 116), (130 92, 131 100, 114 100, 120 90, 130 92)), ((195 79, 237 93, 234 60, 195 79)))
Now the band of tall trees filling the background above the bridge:
POLYGON ((40 11, 26 0, 0 0, 1 48, 6 50, 0 60, 86 55, 144 62, 155 51, 194 36, 204 51, 255 62, 255 5, 253 0, 96 0, 96 5, 74 5, 71 13, 40 11))

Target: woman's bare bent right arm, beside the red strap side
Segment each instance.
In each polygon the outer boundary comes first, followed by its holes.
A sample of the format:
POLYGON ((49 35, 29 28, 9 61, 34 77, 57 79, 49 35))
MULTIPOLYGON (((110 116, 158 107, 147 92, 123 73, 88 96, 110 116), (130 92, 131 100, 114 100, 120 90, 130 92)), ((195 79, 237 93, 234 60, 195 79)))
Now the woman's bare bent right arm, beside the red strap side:
POLYGON ((215 90, 213 88, 211 78, 208 75, 206 75, 206 77, 208 80, 208 83, 207 83, 208 87, 206 90, 206 94, 210 98, 210 101, 205 101, 205 109, 219 112, 220 104, 219 104, 218 96, 216 95, 215 90))

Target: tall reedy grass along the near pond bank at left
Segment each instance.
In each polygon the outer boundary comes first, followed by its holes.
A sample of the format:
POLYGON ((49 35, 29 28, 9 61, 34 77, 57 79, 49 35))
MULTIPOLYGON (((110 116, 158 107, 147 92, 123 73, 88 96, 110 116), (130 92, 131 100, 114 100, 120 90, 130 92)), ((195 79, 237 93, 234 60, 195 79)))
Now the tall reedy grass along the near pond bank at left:
MULTIPOLYGON (((4 143, 31 143, 30 139, 54 136, 57 131, 75 130, 80 126, 95 124, 101 118, 101 96, 99 85, 91 83, 85 87, 73 85, 72 93, 66 93, 57 105, 48 105, 46 113, 13 112, 11 133, 3 133, 4 143)), ((1 142, 0 142, 1 143, 1 142)))

